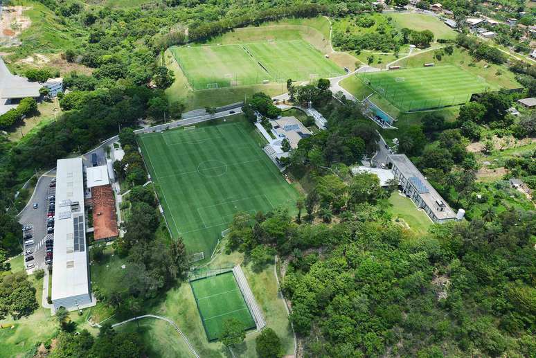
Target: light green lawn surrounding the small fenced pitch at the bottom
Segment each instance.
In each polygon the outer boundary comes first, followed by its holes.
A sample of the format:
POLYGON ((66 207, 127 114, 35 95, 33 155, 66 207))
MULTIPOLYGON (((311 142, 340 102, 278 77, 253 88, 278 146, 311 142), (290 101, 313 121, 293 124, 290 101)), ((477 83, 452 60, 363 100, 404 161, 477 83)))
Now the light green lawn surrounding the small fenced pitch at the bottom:
MULTIPOLYGON (((267 327, 276 331, 281 339, 283 352, 290 355, 294 352, 294 340, 292 330, 289 325, 285 303, 278 296, 277 282, 274 276, 274 265, 268 265, 260 272, 253 272, 249 265, 243 265, 242 253, 233 252, 231 255, 219 254, 215 256, 213 262, 208 265, 211 269, 229 267, 242 264, 242 269, 247 277, 251 291, 261 307, 267 327)), ((195 303, 195 298, 190 285, 183 283, 170 289, 160 297, 156 303, 148 303, 147 312, 166 316, 172 319, 179 328, 186 334, 188 340, 193 345, 201 357, 231 358, 227 350, 219 341, 209 342, 203 328, 199 310, 195 303)), ((150 348, 150 352, 155 357, 190 357, 184 341, 179 334, 165 325, 156 323, 156 320, 147 319, 140 321, 142 337, 150 348)), ((136 323, 127 323, 116 328, 116 331, 136 330, 136 323)), ((255 339, 258 333, 248 334, 245 341, 233 348, 236 357, 257 357, 255 350, 255 339)))

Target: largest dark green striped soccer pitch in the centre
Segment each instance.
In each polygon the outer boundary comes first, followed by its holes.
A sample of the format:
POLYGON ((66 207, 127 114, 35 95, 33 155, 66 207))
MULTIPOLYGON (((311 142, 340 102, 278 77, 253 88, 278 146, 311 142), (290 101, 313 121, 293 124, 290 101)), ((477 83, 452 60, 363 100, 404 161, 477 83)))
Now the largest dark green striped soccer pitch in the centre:
POLYGON ((235 213, 294 208, 296 189, 240 122, 138 138, 172 237, 189 254, 210 258, 235 213))

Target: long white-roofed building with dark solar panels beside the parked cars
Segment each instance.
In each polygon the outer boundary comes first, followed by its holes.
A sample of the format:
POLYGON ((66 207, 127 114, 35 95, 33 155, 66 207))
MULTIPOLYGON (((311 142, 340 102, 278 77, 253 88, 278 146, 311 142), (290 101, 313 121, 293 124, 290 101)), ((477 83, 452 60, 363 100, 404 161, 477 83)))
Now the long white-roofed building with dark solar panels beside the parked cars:
POLYGON ((77 310, 95 305, 91 298, 84 218, 82 158, 60 159, 56 170, 56 210, 52 303, 54 309, 77 310))

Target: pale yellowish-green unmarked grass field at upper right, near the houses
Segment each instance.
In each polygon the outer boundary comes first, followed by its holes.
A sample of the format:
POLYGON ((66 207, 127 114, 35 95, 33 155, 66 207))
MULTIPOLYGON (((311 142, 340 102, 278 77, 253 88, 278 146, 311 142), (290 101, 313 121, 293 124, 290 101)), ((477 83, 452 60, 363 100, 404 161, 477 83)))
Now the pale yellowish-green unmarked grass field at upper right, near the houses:
POLYGON ((456 32, 445 25, 443 21, 432 15, 414 13, 392 13, 395 28, 411 28, 411 30, 430 30, 435 39, 455 39, 456 32))

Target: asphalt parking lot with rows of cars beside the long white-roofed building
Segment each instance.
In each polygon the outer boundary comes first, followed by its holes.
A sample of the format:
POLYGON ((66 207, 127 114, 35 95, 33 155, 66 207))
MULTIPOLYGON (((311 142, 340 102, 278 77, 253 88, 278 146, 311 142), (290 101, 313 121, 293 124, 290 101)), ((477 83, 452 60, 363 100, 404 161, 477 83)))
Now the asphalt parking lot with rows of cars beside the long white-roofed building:
POLYGON ((24 245, 25 255, 24 265, 31 265, 27 269, 28 274, 31 274, 35 269, 46 269, 46 240, 53 238, 53 235, 47 234, 47 213, 49 207, 49 199, 51 195, 55 195, 55 187, 51 187, 51 181, 55 180, 55 171, 48 172, 39 179, 35 187, 33 196, 28 201, 28 205, 19 214, 19 223, 23 226, 30 226, 30 229, 21 233, 21 242, 24 245), (37 204, 37 207, 35 207, 37 204), (31 239, 28 237, 31 235, 31 239), (27 237, 24 240, 24 237, 27 237), (25 244, 28 240, 33 240, 32 244, 25 244), (28 251, 27 251, 28 250, 28 251), (29 253, 31 252, 31 253, 29 253), (26 258, 33 256, 33 260, 26 261, 26 258))

